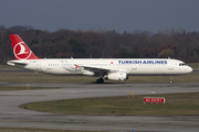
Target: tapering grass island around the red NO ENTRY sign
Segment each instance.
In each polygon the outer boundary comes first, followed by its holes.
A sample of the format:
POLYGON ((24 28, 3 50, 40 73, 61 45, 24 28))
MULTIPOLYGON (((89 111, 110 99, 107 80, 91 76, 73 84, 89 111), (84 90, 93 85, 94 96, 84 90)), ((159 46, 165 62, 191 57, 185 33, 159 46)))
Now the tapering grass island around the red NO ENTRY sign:
POLYGON ((30 110, 106 116, 195 116, 199 114, 199 92, 103 97, 42 101, 21 105, 30 110), (144 103, 144 97, 165 97, 166 103, 144 103), (101 113, 100 113, 101 111, 101 113))

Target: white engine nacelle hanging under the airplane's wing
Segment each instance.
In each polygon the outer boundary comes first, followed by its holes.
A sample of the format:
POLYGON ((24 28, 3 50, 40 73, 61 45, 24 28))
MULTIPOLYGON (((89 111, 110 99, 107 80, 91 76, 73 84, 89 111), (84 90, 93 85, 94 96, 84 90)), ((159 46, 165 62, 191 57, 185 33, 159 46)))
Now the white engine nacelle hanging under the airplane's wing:
POLYGON ((109 73, 108 75, 105 76, 105 79, 109 79, 109 80, 126 80, 128 79, 128 76, 126 73, 109 73))

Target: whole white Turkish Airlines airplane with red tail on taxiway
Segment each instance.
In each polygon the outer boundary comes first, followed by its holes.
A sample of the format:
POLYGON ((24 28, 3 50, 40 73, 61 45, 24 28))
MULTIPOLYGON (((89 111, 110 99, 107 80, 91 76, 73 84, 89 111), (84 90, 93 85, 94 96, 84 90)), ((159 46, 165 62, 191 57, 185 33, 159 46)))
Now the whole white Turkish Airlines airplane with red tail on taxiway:
POLYGON ((107 80, 126 80, 128 76, 185 75, 192 68, 172 58, 40 58, 18 34, 10 34, 15 61, 10 66, 52 75, 85 75, 98 77, 97 84, 107 80))

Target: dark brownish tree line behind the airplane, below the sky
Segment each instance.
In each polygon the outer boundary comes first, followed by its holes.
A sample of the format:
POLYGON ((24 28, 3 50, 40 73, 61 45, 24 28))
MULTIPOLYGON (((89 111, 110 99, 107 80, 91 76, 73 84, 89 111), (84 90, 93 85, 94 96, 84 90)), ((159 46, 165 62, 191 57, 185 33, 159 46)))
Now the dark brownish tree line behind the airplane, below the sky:
POLYGON ((118 33, 102 30, 34 30, 0 25, 0 64, 14 59, 9 34, 19 34, 32 52, 46 58, 177 58, 199 61, 199 32, 182 29, 118 33))

